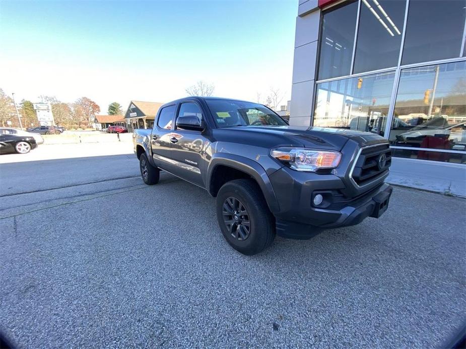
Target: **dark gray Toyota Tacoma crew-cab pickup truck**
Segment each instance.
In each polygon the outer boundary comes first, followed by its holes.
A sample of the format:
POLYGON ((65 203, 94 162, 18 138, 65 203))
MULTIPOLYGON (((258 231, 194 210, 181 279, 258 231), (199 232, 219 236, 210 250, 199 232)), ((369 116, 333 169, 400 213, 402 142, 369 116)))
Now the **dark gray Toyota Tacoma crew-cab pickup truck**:
POLYGON ((392 188, 388 141, 344 129, 289 126, 256 103, 189 97, 163 105, 152 130, 135 130, 148 185, 160 170, 217 198, 225 239, 244 254, 275 234, 307 239, 378 218, 392 188))

